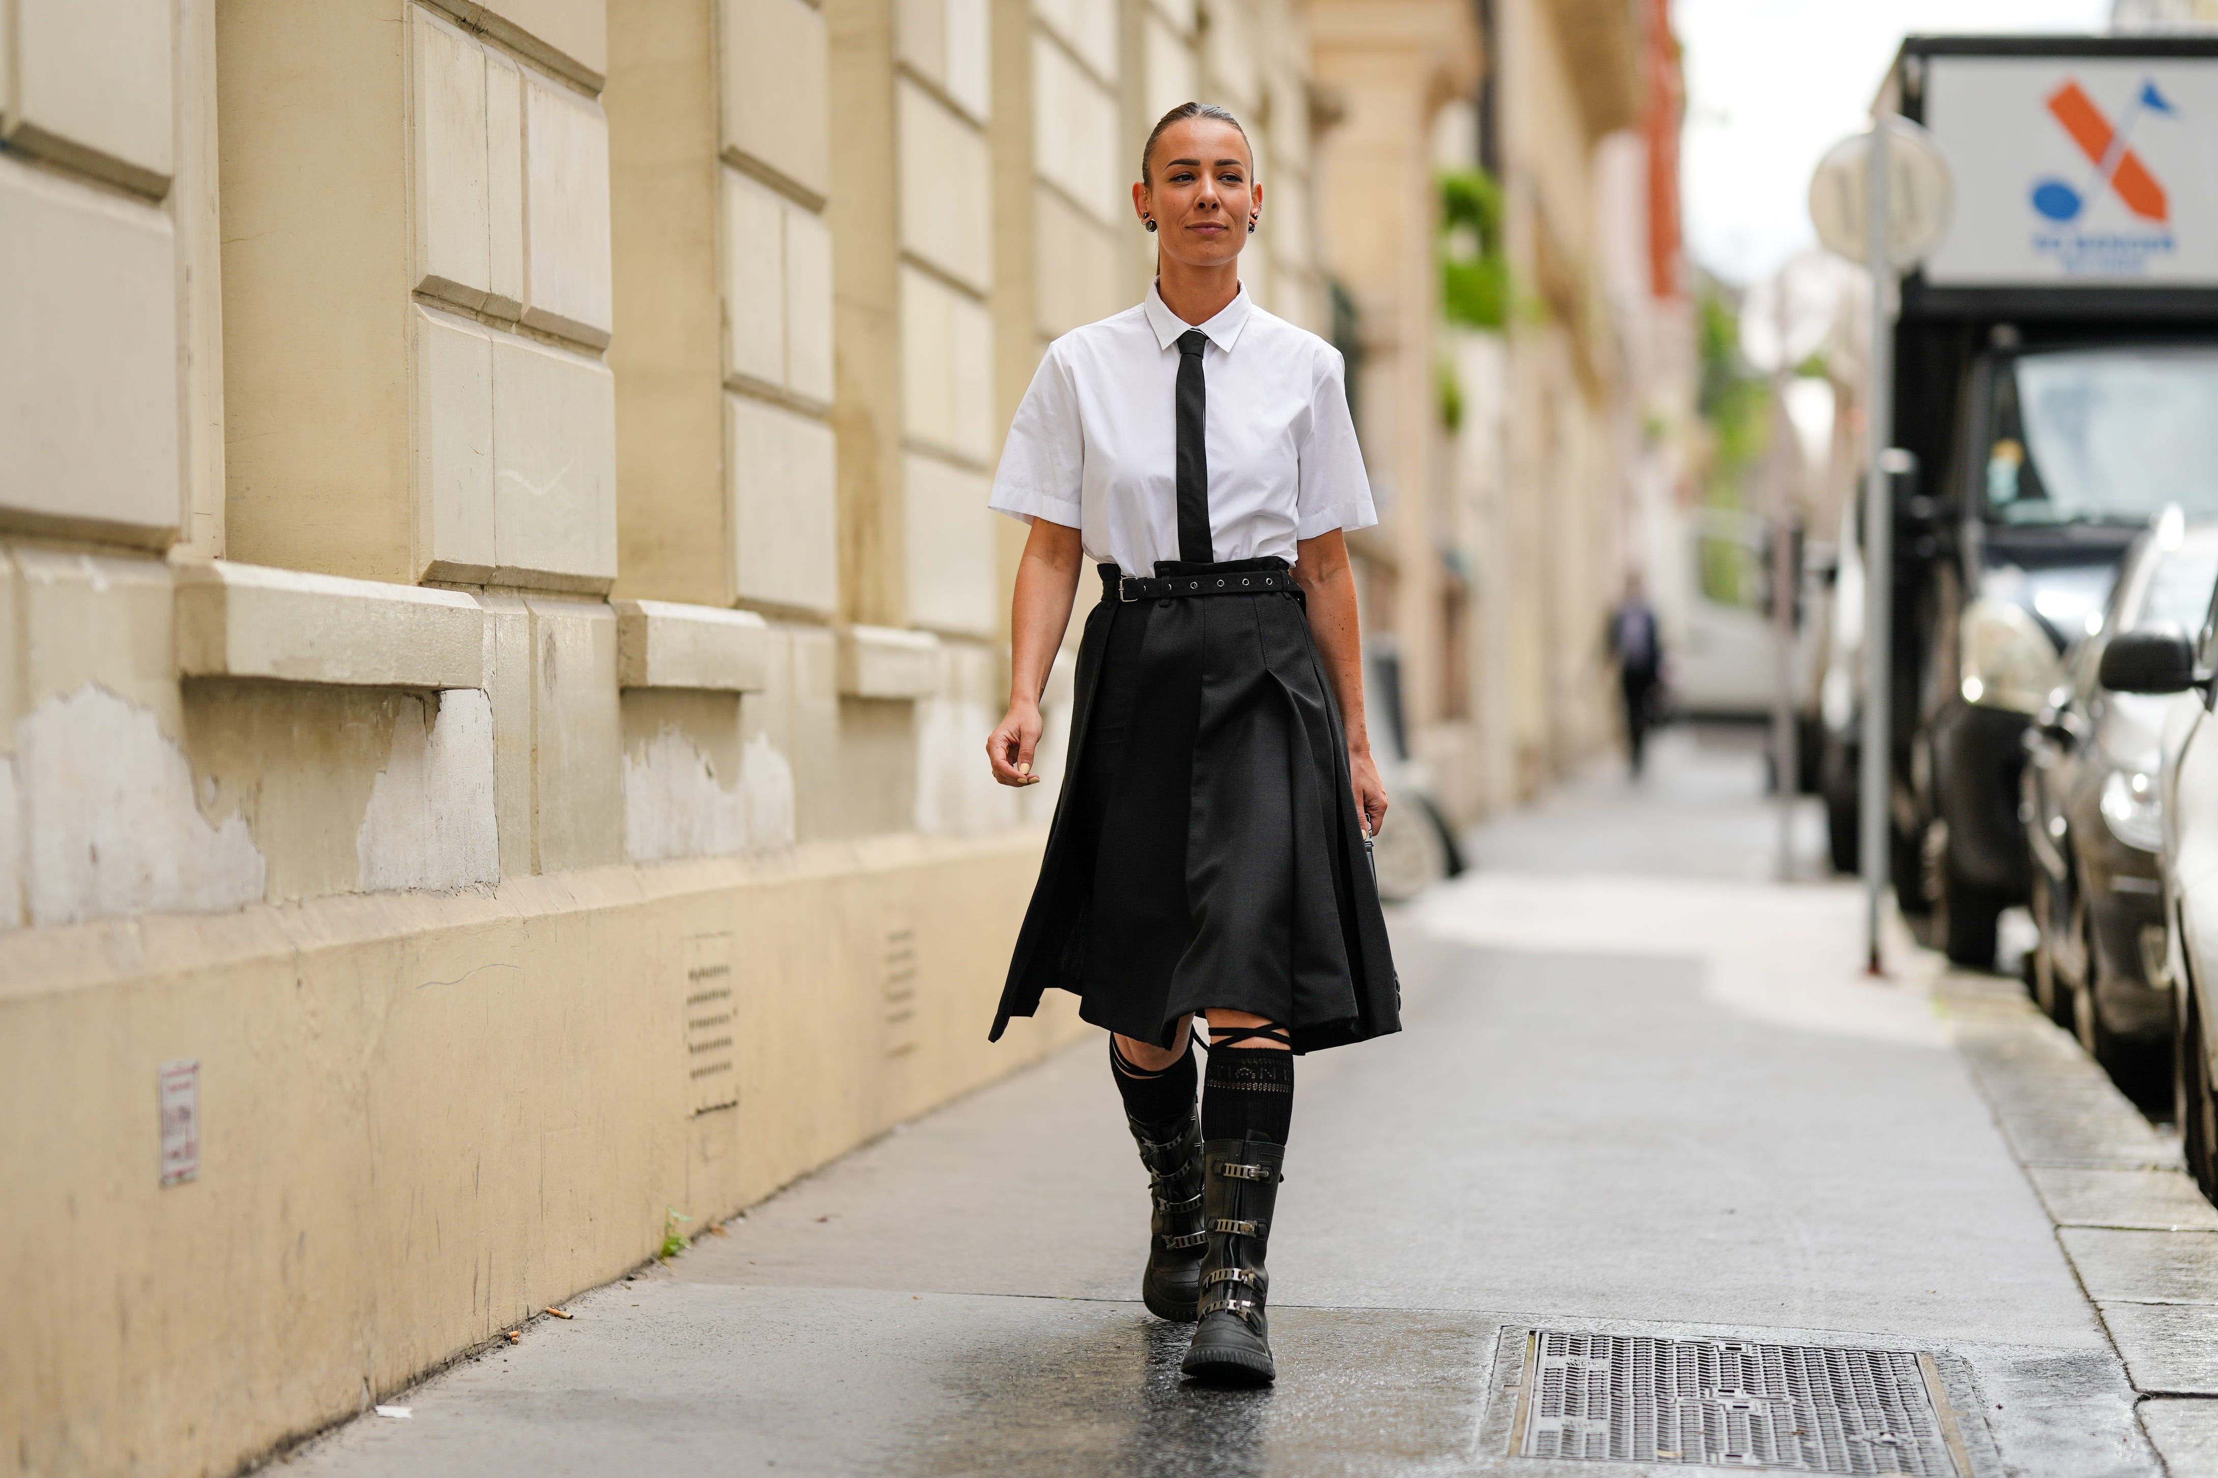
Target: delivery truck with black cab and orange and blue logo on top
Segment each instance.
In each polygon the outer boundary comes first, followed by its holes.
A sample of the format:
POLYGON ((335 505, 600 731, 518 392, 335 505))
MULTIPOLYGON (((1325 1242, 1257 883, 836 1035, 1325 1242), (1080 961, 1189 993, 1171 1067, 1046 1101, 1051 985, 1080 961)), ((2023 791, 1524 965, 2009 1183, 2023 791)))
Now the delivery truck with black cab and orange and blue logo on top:
MULTIPOLYGON (((2218 38, 1910 38, 1881 104, 1956 184, 1879 388, 1907 452, 1890 862, 1934 942, 1987 964, 2027 895, 2023 738, 2065 645, 2151 516, 2218 516, 2218 38)), ((1834 718, 1828 791, 1856 773, 1834 718)))

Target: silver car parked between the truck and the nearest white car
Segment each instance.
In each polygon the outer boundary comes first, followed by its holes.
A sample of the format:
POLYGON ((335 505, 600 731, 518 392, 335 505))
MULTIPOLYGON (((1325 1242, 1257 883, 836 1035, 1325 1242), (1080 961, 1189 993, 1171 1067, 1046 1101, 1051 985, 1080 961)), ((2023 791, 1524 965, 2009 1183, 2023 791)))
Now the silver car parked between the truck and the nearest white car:
POLYGON ((2163 736, 2176 696, 2120 694, 2103 654, 2127 632, 2200 629, 2218 587, 2218 525, 2158 519, 2105 607, 2065 654, 2065 682, 2025 733, 2021 771, 2034 999, 2136 1097, 2171 1070, 2165 991, 2163 736))

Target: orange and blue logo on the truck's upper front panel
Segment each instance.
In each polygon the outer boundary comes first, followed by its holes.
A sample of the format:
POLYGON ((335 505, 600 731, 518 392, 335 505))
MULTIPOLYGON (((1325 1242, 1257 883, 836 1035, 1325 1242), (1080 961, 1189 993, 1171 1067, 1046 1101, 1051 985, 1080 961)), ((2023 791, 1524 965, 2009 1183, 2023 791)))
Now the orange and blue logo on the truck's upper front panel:
POLYGON ((2034 230, 2034 250, 2056 257, 2067 273, 2140 273, 2147 259, 2171 253, 2171 199, 2131 146, 2134 126, 2149 113, 2176 117, 2171 102, 2143 80, 2134 102, 2116 124, 2076 80, 2065 80, 2047 95, 2049 115, 2087 157, 2089 173, 2076 179, 2043 175, 2034 179, 2032 206, 2043 226, 2034 230), (2078 222, 2114 195, 2131 222, 2114 230, 2089 230, 2078 222))

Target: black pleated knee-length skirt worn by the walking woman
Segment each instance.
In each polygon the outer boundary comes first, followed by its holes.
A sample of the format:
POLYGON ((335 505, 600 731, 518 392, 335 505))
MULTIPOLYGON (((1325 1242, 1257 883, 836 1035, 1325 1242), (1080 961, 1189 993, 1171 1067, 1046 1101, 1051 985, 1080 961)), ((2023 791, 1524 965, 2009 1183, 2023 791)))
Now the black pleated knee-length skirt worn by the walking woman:
MULTIPOLYGON (((1258 558, 1171 574, 1286 569, 1258 558)), ((1302 594, 1118 601, 1078 647, 1071 764, 1009 964, 998 1039, 1074 991, 1080 1015, 1169 1039, 1211 1006, 1298 1053, 1402 1028, 1349 776, 1302 594)))

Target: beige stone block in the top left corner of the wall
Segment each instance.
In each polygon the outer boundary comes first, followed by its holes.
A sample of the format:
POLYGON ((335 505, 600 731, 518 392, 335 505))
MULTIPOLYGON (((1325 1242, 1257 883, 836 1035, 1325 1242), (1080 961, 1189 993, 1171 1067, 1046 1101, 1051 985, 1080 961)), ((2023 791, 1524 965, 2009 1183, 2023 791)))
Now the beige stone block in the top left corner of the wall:
POLYGON ((13 0, 9 148, 160 199, 175 173, 169 0, 13 0))

